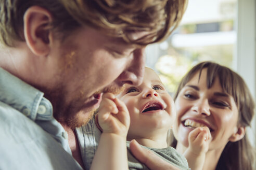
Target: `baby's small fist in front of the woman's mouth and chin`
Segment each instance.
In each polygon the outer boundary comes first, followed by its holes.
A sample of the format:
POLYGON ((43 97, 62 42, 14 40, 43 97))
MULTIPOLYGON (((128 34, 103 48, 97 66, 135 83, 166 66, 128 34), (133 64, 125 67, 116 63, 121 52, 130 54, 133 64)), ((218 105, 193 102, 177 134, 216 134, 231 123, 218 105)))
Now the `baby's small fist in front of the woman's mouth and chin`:
POLYGON ((211 139, 211 132, 208 127, 197 127, 188 135, 188 149, 196 155, 206 153, 211 139))

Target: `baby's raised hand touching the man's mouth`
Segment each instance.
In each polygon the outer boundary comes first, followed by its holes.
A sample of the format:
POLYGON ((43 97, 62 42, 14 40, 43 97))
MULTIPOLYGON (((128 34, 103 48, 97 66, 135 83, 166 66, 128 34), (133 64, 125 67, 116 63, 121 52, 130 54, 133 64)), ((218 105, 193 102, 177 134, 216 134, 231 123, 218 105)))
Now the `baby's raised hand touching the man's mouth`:
POLYGON ((96 119, 103 133, 114 133, 126 138, 130 126, 129 111, 112 93, 103 95, 96 119))

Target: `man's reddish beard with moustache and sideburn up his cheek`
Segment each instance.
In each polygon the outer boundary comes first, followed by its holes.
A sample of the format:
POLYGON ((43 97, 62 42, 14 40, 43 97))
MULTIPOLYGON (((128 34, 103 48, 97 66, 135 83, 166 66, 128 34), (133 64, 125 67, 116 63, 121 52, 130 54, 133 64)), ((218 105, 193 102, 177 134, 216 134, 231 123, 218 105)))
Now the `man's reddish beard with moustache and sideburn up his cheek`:
MULTIPOLYGON (((97 108, 91 110, 88 110, 88 108, 86 109, 85 101, 88 98, 85 97, 86 95, 84 95, 85 92, 83 91, 86 83, 84 83, 84 87, 77 87, 73 92, 67 91, 65 82, 68 81, 67 75, 69 75, 70 70, 73 69, 76 62, 76 48, 71 48, 70 44, 68 44, 68 46, 63 47, 63 49, 66 49, 66 51, 63 51, 61 54, 63 58, 60 60, 58 65, 60 68, 59 74, 56 75, 58 84, 55 84, 54 88, 52 89, 47 87, 39 87, 36 85, 34 87, 44 92, 44 96, 52 103, 54 118, 62 125, 67 125, 68 127, 71 127, 71 129, 75 129, 76 127, 80 127, 88 123, 88 121, 92 119, 94 111, 97 108), (72 96, 68 96, 71 94, 72 96), (67 102, 69 98, 71 98, 71 100, 69 100, 71 102, 67 102)), ((83 80, 83 77, 81 77, 81 80, 83 80)), ((86 80, 84 80, 84 82, 86 82, 86 80)), ((116 85, 115 87, 101 89, 95 92, 92 96, 106 92, 118 94, 122 90, 123 87, 116 85)))

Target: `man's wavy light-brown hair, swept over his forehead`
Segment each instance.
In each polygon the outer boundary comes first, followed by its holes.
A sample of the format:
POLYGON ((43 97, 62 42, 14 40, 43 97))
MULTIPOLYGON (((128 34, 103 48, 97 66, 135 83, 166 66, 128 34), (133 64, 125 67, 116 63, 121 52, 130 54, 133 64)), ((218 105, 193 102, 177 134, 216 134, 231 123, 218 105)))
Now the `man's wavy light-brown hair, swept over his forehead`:
POLYGON ((187 0, 0 0, 0 42, 14 46, 14 40, 23 41, 24 13, 40 6, 52 13, 51 26, 63 36, 86 25, 127 43, 147 45, 170 35, 186 5, 187 0), (129 37, 137 31, 149 34, 137 40, 129 37))

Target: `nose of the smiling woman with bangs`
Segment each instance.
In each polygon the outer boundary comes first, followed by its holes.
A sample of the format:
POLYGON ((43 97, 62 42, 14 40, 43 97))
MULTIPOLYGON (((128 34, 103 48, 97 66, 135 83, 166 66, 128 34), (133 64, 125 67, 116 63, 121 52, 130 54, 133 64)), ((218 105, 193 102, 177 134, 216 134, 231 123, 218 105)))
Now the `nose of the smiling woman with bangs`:
POLYGON ((209 102, 206 99, 201 99, 198 102, 195 103, 195 105, 192 107, 192 110, 197 112, 198 114, 210 116, 210 106, 209 102))

